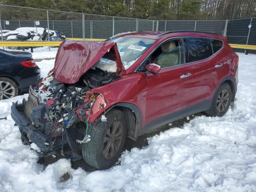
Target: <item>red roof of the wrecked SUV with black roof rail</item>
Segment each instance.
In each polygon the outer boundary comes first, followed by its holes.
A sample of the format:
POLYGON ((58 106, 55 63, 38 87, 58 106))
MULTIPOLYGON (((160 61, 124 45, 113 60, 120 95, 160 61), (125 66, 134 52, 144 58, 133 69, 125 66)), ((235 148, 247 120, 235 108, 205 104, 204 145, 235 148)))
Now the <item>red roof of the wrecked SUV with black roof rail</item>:
POLYGON ((140 32, 128 32, 128 33, 122 33, 117 34, 115 37, 139 37, 139 38, 149 38, 149 39, 158 39, 161 36, 167 35, 167 34, 175 34, 175 33, 193 33, 193 34, 211 34, 211 35, 217 35, 216 33, 210 33, 210 32, 201 32, 201 31, 140 31, 140 32))

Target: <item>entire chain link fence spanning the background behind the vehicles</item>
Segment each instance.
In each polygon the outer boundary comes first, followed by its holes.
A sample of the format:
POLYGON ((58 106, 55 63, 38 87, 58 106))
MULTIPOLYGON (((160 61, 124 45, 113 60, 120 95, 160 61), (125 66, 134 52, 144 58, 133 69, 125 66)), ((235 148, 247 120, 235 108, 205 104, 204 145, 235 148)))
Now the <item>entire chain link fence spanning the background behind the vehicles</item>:
POLYGON ((0 24, 1 34, 33 27, 58 31, 66 38, 107 39, 122 32, 191 30, 227 36, 232 44, 256 45, 256 18, 156 21, 0 5, 0 24))

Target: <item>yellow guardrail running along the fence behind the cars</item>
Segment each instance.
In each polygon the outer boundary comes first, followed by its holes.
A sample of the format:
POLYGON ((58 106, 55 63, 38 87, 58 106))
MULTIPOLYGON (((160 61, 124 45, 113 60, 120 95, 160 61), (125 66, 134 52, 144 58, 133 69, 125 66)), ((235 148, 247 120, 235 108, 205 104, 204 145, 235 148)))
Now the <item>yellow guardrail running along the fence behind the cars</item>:
MULTIPOLYGON (((67 38, 74 41, 104 41, 106 39, 83 39, 83 38, 67 38)), ((42 47, 42 46, 59 46, 62 41, 0 41, 3 47, 42 47)), ((232 48, 256 50, 255 45, 239 45, 230 44, 232 48)))

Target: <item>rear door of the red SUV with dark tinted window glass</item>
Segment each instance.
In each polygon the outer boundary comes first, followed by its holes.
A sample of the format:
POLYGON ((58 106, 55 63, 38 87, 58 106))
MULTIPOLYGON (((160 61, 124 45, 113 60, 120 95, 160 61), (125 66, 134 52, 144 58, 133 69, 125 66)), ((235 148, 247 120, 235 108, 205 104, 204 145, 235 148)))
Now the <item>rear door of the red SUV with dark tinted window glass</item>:
POLYGON ((184 38, 186 63, 192 67, 191 105, 210 100, 225 76, 225 62, 218 52, 222 41, 209 38, 184 38), (215 46, 214 46, 215 44, 215 46))

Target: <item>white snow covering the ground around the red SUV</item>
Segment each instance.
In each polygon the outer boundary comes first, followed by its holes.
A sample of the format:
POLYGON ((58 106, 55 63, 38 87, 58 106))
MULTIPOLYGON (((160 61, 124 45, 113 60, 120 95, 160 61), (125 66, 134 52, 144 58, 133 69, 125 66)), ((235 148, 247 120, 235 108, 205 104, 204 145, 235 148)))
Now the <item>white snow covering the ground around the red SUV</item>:
MULTIPOLYGON (((221 118, 198 116, 182 127, 148 138, 120 164, 104 171, 71 168, 60 159, 44 168, 22 144, 10 116, 12 102, 0 101, 0 191, 256 191, 256 55, 239 55, 239 84, 233 109, 221 118), (65 182, 60 177, 68 172, 65 182)), ((54 60, 37 62, 42 73, 54 60)))

